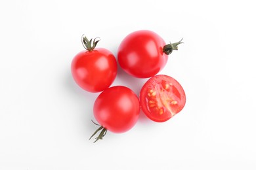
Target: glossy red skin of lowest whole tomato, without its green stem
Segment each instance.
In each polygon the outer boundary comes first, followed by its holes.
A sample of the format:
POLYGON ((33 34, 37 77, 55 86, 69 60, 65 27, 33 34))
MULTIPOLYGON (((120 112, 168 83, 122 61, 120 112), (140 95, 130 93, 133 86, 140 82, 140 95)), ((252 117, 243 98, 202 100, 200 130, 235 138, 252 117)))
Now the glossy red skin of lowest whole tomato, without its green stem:
POLYGON ((96 98, 93 107, 97 122, 114 133, 123 133, 135 126, 139 111, 139 98, 124 86, 104 90, 96 98))

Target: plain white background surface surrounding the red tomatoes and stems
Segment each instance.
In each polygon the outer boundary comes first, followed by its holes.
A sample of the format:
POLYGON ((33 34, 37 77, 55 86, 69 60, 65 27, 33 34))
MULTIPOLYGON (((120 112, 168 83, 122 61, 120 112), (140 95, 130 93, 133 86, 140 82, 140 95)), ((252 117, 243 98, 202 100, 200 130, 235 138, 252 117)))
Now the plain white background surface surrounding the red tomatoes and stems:
MULTIPOLYGON (((0 1, 0 169, 256 169, 253 1, 0 1), (89 137, 99 93, 70 63, 81 35, 115 56, 132 31, 184 38, 161 74, 183 86, 184 109, 102 141, 89 137)), ((121 69, 112 84, 139 94, 121 69)))

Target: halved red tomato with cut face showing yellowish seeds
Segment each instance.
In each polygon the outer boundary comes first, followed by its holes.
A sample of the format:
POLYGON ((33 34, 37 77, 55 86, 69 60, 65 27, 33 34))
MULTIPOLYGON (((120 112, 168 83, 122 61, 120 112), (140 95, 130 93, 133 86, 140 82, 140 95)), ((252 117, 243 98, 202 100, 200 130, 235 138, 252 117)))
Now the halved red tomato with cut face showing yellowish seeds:
POLYGON ((171 76, 156 75, 140 90, 142 111, 155 122, 165 122, 180 112, 186 103, 184 90, 171 76))

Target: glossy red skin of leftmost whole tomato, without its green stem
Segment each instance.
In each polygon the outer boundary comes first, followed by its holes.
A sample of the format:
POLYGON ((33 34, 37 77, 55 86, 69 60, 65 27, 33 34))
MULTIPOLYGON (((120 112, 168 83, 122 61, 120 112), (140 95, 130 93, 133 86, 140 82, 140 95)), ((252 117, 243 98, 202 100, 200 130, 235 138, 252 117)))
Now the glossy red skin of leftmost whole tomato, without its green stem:
POLYGON ((72 76, 75 82, 88 92, 102 92, 114 82, 117 61, 112 52, 105 48, 83 50, 73 59, 72 76))

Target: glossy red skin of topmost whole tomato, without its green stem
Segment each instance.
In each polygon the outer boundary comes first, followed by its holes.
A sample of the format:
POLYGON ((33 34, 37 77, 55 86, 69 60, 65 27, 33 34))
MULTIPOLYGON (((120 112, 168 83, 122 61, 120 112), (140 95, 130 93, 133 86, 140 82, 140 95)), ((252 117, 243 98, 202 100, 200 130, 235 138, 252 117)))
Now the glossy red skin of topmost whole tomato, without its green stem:
POLYGON ((121 68, 137 78, 156 75, 167 63, 168 56, 163 52, 165 42, 153 31, 135 31, 121 42, 117 59, 121 68))

